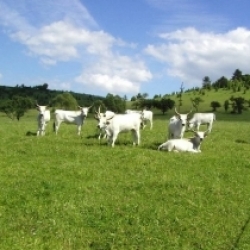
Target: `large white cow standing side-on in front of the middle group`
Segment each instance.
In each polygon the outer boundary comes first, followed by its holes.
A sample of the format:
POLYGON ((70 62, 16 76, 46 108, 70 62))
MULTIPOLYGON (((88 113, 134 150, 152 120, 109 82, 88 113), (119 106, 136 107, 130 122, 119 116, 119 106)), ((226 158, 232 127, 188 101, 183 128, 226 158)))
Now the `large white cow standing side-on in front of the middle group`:
POLYGON ((97 127, 99 129, 105 129, 108 142, 112 147, 115 146, 115 141, 119 133, 128 131, 131 131, 133 135, 133 145, 140 144, 141 114, 115 114, 109 118, 98 114, 95 118, 99 121, 97 127))

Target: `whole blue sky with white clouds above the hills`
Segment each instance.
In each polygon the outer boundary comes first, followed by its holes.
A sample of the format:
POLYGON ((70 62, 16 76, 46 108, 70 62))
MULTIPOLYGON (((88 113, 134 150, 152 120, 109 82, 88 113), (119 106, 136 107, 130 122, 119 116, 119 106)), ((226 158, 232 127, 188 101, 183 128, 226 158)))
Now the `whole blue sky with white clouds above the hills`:
POLYGON ((250 74, 249 0, 0 0, 0 85, 171 94, 250 74))

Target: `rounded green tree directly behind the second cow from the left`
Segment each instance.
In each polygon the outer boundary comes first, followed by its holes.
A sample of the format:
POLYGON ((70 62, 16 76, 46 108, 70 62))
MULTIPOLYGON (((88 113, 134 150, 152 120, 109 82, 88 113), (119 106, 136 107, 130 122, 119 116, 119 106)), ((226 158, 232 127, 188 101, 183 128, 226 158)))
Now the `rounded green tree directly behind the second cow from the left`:
POLYGON ((57 95, 52 99, 51 105, 65 110, 75 110, 78 107, 76 99, 68 92, 57 95))

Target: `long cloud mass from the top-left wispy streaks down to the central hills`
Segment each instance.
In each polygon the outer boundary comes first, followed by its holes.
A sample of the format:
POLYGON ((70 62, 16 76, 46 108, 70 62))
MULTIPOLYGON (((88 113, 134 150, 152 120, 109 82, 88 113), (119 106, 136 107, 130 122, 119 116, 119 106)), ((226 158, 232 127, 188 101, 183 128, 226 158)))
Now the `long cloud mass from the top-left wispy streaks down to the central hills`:
MULTIPOLYGON (((8 27, 8 34, 15 42, 27 48, 28 55, 48 67, 60 62, 83 65, 83 72, 75 80, 84 86, 114 94, 134 94, 143 82, 152 78, 141 59, 121 54, 135 49, 136 44, 97 30, 95 20, 78 0, 45 1, 45 4, 26 0, 24 5, 19 2, 15 5, 14 0, 7 5, 0 0, 0 7, 4 7, 4 13, 0 10, 4 14, 0 23, 8 27), (91 30, 93 26, 95 30, 91 30)), ((60 87, 65 89, 70 85, 60 87)))

